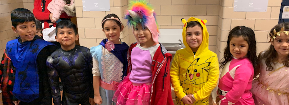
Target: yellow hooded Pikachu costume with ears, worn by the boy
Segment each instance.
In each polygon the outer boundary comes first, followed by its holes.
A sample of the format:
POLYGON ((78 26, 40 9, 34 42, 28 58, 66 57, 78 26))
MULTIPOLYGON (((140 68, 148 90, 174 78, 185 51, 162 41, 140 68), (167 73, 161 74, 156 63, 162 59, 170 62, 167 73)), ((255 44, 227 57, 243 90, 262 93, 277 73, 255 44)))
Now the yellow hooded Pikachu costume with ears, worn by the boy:
POLYGON ((209 33, 205 23, 191 17, 183 27, 183 41, 186 48, 177 50, 171 65, 170 75, 172 86, 175 90, 177 105, 184 105, 181 101, 187 94, 193 94, 193 105, 208 105, 212 90, 217 86, 219 76, 219 63, 216 53, 209 50, 209 33), (186 42, 186 27, 190 21, 200 22, 203 27, 203 41, 196 54, 192 52, 186 42))

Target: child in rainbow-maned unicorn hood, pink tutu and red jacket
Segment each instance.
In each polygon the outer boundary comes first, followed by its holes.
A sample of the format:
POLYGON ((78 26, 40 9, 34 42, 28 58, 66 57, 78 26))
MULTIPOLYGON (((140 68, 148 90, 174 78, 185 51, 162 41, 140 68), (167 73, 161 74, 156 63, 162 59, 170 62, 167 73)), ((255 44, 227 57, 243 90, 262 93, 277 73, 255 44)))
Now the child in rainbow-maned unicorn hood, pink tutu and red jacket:
POLYGON ((158 42, 155 16, 147 1, 130 1, 125 19, 136 42, 128 50, 128 74, 112 98, 116 104, 173 105, 169 68, 172 55, 158 42))

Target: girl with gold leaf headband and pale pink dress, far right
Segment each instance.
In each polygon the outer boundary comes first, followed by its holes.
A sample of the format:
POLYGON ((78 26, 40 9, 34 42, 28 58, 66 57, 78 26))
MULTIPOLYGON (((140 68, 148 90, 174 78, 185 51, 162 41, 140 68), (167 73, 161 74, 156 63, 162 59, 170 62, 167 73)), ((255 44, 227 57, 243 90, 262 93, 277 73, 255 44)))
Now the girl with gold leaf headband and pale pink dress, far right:
POLYGON ((289 23, 280 23, 270 31, 271 45, 260 52, 251 92, 256 105, 288 105, 289 23))

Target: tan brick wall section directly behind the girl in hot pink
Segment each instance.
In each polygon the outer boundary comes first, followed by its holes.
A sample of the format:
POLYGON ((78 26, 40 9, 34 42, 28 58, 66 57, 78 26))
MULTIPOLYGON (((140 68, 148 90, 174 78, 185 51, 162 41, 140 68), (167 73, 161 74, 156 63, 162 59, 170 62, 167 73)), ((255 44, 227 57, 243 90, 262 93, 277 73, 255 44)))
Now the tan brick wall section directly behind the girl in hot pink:
POLYGON ((266 50, 270 46, 268 33, 278 24, 281 2, 282 0, 269 0, 267 12, 233 12, 233 0, 221 0, 216 41, 218 59, 223 58, 230 29, 240 25, 254 30, 257 53, 266 50))

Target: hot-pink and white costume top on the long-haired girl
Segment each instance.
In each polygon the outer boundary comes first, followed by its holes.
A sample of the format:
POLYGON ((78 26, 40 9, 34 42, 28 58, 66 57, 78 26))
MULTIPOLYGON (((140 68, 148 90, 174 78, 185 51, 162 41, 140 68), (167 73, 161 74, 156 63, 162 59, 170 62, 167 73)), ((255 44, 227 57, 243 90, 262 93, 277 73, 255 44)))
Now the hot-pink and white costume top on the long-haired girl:
POLYGON ((227 62, 218 85, 220 105, 254 105, 250 91, 253 75, 254 67, 247 57, 227 62))

